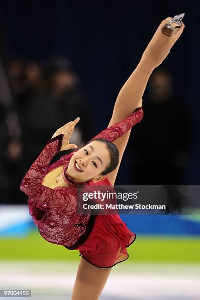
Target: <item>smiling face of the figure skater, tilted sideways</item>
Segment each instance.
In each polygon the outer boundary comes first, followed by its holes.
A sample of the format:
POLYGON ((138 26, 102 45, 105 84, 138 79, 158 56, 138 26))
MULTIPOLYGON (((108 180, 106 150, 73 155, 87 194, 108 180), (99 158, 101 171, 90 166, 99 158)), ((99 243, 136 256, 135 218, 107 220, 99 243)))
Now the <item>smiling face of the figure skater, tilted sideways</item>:
POLYGON ((101 173, 109 164, 110 153, 106 145, 100 141, 92 141, 73 154, 67 173, 77 183, 90 179, 98 182, 105 178, 101 173))

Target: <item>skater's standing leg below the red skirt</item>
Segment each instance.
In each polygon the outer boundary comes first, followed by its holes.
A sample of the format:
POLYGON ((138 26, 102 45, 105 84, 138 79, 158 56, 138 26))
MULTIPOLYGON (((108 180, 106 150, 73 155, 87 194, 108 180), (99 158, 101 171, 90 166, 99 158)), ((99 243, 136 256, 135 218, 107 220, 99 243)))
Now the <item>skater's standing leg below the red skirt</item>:
POLYGON ((98 300, 112 268, 98 268, 81 257, 71 300, 98 300))

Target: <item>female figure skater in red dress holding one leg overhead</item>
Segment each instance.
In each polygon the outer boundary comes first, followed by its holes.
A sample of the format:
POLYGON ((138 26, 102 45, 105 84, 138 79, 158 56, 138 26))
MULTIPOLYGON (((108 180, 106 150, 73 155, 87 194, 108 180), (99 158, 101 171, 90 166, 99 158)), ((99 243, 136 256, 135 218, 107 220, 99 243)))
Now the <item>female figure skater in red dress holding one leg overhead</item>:
POLYGON ((143 118, 142 96, 152 71, 166 58, 185 25, 175 35, 158 26, 141 61, 125 82, 108 127, 80 149, 70 145, 79 121, 59 128, 27 171, 21 190, 29 197, 29 213, 44 239, 79 250, 80 263, 72 300, 97 300, 114 265, 128 258, 126 248, 135 240, 119 215, 78 215, 77 185, 111 185, 120 167, 131 128, 143 118), (50 165, 62 150, 76 149, 50 165), (49 166, 50 165, 50 166, 49 166))

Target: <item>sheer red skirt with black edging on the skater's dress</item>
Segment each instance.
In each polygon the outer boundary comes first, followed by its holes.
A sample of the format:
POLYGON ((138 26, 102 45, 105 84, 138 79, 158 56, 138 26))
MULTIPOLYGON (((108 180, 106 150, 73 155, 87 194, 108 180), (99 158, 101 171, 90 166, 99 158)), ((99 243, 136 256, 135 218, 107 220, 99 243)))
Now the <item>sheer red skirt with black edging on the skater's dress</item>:
MULTIPOLYGON (((99 184, 111 185, 106 177, 99 184)), ((126 248, 136 239, 119 215, 97 215, 87 240, 77 248, 81 257, 96 267, 111 268, 128 259, 126 248)))

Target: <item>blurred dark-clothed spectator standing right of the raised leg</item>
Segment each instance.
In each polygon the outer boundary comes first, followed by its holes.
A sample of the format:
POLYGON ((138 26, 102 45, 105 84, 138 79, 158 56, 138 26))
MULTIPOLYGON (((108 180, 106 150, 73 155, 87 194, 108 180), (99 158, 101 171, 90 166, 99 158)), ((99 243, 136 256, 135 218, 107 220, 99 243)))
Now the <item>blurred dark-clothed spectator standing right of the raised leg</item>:
POLYGON ((129 178, 138 185, 186 185, 192 118, 184 99, 175 95, 171 75, 156 69, 144 96, 144 119, 129 141, 129 178))

